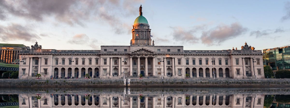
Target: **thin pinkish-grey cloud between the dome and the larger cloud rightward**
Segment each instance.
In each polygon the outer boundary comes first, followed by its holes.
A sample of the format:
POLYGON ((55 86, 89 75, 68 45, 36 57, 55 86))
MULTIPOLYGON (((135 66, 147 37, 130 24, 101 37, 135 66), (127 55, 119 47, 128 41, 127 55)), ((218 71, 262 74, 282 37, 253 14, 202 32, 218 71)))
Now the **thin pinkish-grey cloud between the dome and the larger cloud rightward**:
POLYGON ((190 30, 185 30, 182 27, 171 27, 173 29, 173 39, 175 41, 196 43, 199 38, 194 35, 197 31, 203 30, 206 25, 194 26, 190 30))

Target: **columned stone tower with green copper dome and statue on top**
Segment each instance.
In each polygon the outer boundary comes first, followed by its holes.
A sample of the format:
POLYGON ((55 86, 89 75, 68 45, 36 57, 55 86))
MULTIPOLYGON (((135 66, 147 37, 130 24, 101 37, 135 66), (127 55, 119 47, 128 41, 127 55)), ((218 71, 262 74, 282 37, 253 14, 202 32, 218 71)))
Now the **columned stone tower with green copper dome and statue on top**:
POLYGON ((135 19, 132 29, 131 45, 151 46, 151 29, 147 19, 142 15, 142 5, 139 7, 139 16, 135 19))

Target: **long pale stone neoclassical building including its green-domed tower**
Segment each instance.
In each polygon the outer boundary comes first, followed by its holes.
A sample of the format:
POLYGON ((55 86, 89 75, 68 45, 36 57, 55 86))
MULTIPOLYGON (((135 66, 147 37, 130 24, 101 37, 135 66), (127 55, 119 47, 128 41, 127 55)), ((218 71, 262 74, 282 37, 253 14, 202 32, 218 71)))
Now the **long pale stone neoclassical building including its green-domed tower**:
POLYGON ((19 78, 264 78, 262 51, 245 43, 241 50, 184 50, 155 46, 142 7, 129 46, 101 50, 41 49, 36 43, 20 52, 19 78))

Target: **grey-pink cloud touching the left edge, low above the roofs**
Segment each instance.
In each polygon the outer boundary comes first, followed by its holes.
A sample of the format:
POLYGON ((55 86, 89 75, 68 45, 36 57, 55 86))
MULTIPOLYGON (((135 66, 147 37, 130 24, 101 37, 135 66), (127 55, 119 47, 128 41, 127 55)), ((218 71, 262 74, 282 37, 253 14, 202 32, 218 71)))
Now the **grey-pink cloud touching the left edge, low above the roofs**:
POLYGON ((20 24, 10 24, 8 26, 0 26, 1 41, 24 40, 35 41, 41 39, 38 35, 33 33, 29 26, 22 26, 20 24))

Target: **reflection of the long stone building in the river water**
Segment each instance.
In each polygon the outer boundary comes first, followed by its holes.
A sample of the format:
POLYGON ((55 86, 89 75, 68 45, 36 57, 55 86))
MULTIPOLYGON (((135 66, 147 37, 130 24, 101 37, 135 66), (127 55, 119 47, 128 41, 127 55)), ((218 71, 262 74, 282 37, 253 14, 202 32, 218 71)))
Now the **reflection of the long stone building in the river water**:
POLYGON ((263 108, 264 94, 19 94, 19 107, 263 108))

